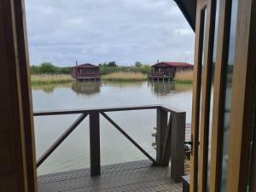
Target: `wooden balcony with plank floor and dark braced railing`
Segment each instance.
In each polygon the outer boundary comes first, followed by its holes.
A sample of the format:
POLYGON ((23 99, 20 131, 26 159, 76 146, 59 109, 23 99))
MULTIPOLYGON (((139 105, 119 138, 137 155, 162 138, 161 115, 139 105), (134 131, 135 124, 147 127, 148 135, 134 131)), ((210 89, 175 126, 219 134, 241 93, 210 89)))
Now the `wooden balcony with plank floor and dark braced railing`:
MULTIPOLYGON (((81 110, 36 112, 34 116, 80 114, 55 143, 38 159, 37 167, 85 119, 89 118, 90 168, 56 172, 38 176, 38 191, 183 191, 186 113, 161 105, 128 106, 120 108, 91 108, 81 110), (154 110, 156 118, 155 158, 130 137, 109 113, 134 110, 154 110), (113 127, 145 155, 145 160, 101 166, 100 119, 113 127)), ((113 138, 109 138, 113 139, 113 138)), ((121 144, 121 143, 120 143, 121 144)), ((113 146, 114 148, 114 146, 113 146)))

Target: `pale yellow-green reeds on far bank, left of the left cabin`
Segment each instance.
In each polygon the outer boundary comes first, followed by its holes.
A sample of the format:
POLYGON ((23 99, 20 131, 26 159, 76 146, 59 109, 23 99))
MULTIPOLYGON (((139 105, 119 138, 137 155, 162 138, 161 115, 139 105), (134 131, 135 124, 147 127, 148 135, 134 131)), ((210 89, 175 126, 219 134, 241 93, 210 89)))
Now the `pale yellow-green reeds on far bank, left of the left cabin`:
POLYGON ((72 82, 73 79, 67 74, 41 74, 31 76, 32 84, 63 84, 72 82))

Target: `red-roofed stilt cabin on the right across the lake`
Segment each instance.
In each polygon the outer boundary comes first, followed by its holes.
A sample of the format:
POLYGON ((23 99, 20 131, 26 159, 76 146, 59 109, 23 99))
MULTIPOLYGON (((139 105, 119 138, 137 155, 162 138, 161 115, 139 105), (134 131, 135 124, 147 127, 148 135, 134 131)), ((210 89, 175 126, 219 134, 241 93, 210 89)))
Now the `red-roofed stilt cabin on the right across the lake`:
POLYGON ((178 71, 193 70, 194 66, 186 62, 162 61, 154 64, 148 73, 149 80, 172 80, 178 71))

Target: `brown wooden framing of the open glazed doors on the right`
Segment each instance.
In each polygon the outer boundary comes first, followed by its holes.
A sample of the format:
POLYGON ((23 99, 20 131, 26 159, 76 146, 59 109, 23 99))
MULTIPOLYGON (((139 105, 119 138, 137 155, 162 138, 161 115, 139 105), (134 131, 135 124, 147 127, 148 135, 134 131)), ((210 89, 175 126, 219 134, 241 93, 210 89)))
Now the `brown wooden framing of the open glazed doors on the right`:
MULTIPOLYGON (((209 70, 212 52, 213 9, 215 1, 199 0, 196 10, 195 27, 195 72, 192 108, 192 142, 190 192, 206 191, 207 142, 209 118, 209 70), (201 9, 207 6, 207 28, 205 38, 204 67, 199 66, 201 57, 201 9), (201 88, 201 87, 202 88, 201 88), (201 102, 201 103, 200 103, 201 102), (198 162, 198 138, 200 131, 200 158, 198 162), (199 177, 197 176, 199 174, 199 177), (198 180, 197 180, 198 179, 198 180)), ((223 120, 224 120, 224 70, 227 62, 230 38, 230 0, 219 1, 217 58, 214 73, 214 93, 212 108, 212 142, 210 192, 218 192, 222 166, 223 120)), ((256 5, 238 0, 236 26, 236 57, 232 74, 232 108, 230 112, 229 165, 227 192, 246 191, 249 174, 250 134, 253 125, 253 96, 256 77, 256 5), (239 101, 239 102, 238 102, 239 101)), ((214 10, 214 11, 213 11, 214 10)), ((214 28, 213 28, 214 29, 214 28)))

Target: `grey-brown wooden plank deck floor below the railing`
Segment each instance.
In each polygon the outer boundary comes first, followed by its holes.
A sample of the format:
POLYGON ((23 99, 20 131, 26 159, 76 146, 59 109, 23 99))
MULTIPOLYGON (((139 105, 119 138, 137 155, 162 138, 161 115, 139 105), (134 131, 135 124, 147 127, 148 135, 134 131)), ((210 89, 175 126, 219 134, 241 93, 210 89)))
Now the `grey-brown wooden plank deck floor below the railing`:
POLYGON ((102 175, 95 177, 90 177, 90 169, 39 176, 38 189, 39 192, 182 192, 182 183, 172 181, 170 167, 152 166, 150 160, 140 160, 102 166, 102 175))

